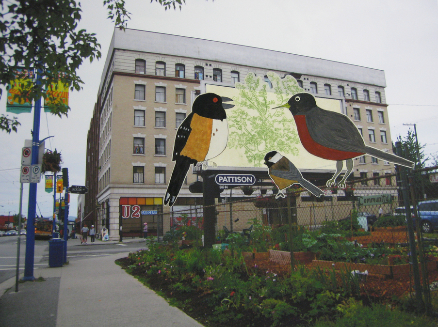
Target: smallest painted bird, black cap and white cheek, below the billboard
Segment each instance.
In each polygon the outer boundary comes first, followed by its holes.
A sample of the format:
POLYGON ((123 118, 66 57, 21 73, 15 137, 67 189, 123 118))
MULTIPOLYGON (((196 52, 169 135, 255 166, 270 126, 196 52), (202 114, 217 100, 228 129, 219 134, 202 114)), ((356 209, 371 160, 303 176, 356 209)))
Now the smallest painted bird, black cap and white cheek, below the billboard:
POLYGON ((321 195, 324 195, 324 192, 321 189, 304 179, 301 172, 288 158, 280 155, 278 152, 268 152, 263 164, 268 166, 269 177, 271 177, 276 187, 278 187, 276 199, 280 196, 285 198, 286 196, 283 191, 294 184, 301 185, 318 198, 321 195))

